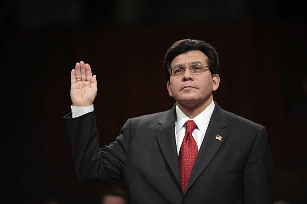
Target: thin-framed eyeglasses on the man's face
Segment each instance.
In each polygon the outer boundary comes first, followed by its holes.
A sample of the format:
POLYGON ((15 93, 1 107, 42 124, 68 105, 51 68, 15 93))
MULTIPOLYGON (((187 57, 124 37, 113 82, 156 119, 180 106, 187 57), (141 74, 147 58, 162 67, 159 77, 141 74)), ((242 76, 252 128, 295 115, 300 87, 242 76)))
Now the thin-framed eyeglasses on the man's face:
POLYGON ((184 74, 187 67, 189 67, 192 73, 198 74, 203 71, 209 70, 209 66, 204 63, 191 63, 189 66, 184 66, 183 64, 178 64, 169 69, 170 75, 172 76, 180 76, 184 74))

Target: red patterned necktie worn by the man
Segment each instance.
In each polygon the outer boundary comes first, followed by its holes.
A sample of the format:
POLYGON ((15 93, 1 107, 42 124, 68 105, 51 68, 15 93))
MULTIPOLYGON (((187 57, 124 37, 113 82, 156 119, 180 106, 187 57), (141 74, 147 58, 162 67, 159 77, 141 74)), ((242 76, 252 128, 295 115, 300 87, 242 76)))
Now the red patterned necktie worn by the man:
POLYGON ((186 122, 186 134, 178 155, 181 186, 184 193, 186 192, 189 177, 198 153, 197 143, 192 136, 192 132, 195 128, 196 124, 192 119, 186 122))

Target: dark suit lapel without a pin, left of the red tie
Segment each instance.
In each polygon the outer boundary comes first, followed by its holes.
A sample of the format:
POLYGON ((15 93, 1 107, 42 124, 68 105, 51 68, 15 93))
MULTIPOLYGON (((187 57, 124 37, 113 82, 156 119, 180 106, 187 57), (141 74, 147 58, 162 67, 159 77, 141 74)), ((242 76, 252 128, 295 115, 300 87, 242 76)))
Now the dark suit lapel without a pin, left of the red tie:
POLYGON ((175 139, 175 105, 171 110, 167 112, 166 116, 159 121, 160 126, 155 129, 155 132, 165 160, 170 166, 170 169, 177 180, 177 185, 179 184, 181 186, 175 139))

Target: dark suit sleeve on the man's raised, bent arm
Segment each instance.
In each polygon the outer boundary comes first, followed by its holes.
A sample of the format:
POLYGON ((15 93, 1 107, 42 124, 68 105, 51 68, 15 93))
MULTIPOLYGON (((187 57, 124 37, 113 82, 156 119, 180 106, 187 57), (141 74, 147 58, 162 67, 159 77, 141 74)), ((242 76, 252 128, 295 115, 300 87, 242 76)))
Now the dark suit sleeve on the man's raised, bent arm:
POLYGON ((123 179, 122 168, 128 149, 130 119, 125 122, 114 142, 99 148, 99 133, 94 112, 76 118, 71 118, 71 114, 68 114, 63 118, 70 137, 75 170, 79 179, 83 181, 123 179))

